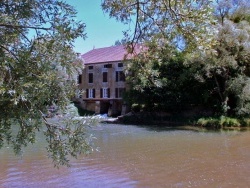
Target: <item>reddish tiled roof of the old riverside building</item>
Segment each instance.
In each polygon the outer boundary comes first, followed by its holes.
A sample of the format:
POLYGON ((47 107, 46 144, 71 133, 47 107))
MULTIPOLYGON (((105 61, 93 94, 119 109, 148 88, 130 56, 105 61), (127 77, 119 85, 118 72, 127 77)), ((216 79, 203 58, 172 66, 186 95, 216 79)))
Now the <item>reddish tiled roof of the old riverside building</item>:
MULTIPOLYGON (((135 51, 139 51, 139 46, 136 46, 135 51)), ((90 50, 89 52, 81 55, 84 60, 84 64, 93 64, 93 63, 105 63, 105 62, 114 62, 122 61, 127 54, 127 50, 123 45, 120 46, 111 46, 105 48, 97 48, 90 50)), ((131 54, 127 56, 126 59, 131 59, 131 54)))

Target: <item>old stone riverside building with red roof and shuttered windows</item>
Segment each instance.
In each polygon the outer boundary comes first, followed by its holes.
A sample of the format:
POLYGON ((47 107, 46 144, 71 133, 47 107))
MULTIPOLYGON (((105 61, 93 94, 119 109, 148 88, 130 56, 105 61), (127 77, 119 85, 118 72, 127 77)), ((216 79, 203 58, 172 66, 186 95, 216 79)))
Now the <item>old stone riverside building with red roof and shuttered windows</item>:
POLYGON ((84 70, 78 78, 81 90, 78 101, 83 109, 109 116, 128 112, 122 100, 128 89, 124 68, 130 57, 126 54, 124 46, 111 46, 93 49, 81 56, 84 70))

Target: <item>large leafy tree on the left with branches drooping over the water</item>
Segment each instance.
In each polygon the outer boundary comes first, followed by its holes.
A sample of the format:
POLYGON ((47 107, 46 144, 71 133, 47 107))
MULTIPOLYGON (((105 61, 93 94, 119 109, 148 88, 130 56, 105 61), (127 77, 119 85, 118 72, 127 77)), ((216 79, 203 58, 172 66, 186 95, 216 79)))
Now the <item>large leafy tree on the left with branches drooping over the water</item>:
POLYGON ((0 10, 0 148, 20 153, 43 130, 55 165, 68 164, 89 148, 83 122, 51 123, 42 114, 52 104, 65 112, 74 95, 81 61, 72 47, 85 25, 59 0, 3 0, 0 10))

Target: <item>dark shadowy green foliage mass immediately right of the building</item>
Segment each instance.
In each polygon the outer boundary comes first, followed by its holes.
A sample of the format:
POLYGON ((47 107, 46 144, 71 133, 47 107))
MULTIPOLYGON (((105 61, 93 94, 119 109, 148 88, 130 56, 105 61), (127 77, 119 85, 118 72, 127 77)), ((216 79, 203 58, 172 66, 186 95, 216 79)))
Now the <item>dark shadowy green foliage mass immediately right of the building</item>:
POLYGON ((209 79, 200 82, 194 77, 202 67, 185 65, 184 54, 181 52, 172 51, 171 54, 169 48, 166 48, 159 55, 159 61, 151 64, 135 60, 128 65, 127 71, 132 74, 127 81, 132 89, 125 95, 127 103, 138 104, 144 111, 180 112, 200 104, 211 108, 210 102, 215 100, 211 95, 213 82, 209 79), (148 66, 151 66, 149 70, 148 66), (146 74, 143 77, 140 74, 143 70, 156 75, 149 73, 149 77, 146 74))

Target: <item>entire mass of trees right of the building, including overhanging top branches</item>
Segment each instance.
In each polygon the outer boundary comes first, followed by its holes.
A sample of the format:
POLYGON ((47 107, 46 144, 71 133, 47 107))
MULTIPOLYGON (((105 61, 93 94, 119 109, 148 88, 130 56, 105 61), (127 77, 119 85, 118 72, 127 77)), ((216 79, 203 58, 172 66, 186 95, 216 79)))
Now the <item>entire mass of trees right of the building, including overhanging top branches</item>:
POLYGON ((180 112, 202 106, 216 116, 248 116, 250 3, 176 3, 131 0, 117 5, 120 14, 106 7, 121 21, 136 17, 130 41, 147 46, 127 67, 132 72, 127 101, 146 111, 180 112))

